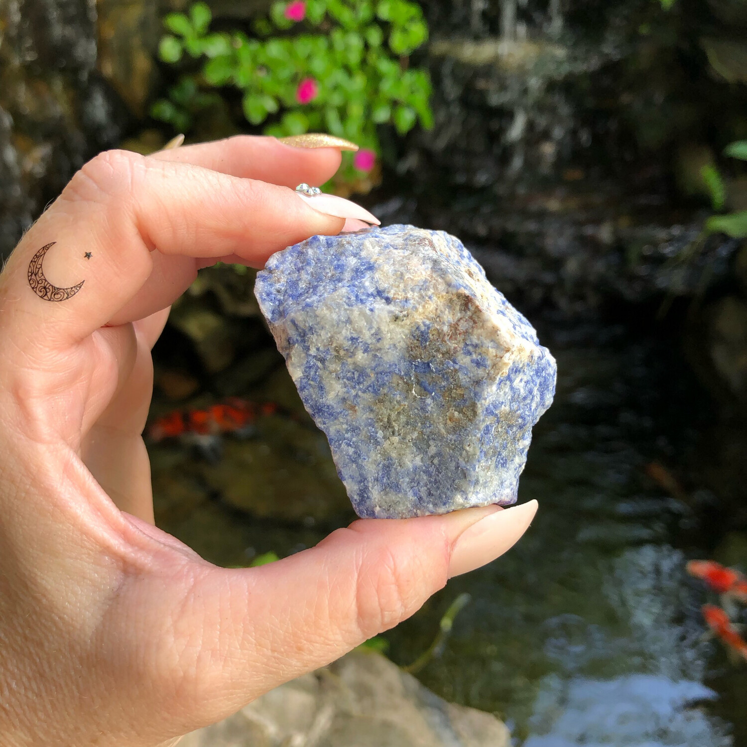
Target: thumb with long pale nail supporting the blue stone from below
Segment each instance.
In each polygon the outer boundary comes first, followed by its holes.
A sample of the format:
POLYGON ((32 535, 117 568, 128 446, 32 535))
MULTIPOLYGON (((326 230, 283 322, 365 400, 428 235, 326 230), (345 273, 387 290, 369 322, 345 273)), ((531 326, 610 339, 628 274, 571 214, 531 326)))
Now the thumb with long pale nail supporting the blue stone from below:
POLYGON ((357 521, 316 548, 261 568, 192 565, 186 598, 174 596, 173 583, 152 579, 167 598, 143 624, 171 636, 200 631, 199 645, 179 660, 180 671, 190 673, 180 686, 196 696, 196 718, 211 722, 406 619, 451 574, 507 551, 535 512, 532 501, 357 521), (167 608, 181 613, 175 619, 167 608))

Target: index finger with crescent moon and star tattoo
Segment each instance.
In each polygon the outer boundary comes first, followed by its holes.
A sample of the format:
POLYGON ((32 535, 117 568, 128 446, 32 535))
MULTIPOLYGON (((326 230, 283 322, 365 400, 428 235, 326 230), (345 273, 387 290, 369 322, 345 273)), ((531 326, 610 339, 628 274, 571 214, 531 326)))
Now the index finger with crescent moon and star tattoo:
POLYGON ((286 187, 106 152, 75 175, 11 255, 0 276, 0 329, 19 347, 59 349, 105 323, 124 321, 117 312, 154 271, 152 250, 186 256, 191 264, 180 265, 176 276, 161 268, 148 313, 185 291, 197 258, 237 254, 261 266, 273 252, 314 234, 336 234, 343 224, 286 187), (40 247, 50 242, 54 247, 41 267, 40 247), (75 291, 49 303, 55 300, 49 291, 38 294, 46 278, 53 288, 75 291))

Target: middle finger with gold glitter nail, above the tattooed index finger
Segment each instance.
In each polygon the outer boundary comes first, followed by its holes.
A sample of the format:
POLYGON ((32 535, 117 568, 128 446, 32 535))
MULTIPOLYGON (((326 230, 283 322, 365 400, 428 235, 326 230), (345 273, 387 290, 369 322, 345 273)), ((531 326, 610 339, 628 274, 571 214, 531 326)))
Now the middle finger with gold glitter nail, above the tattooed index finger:
POLYGON ((342 156, 338 148, 295 148, 275 137, 236 135, 162 150, 151 158, 295 188, 302 182, 323 185, 335 175, 342 156))

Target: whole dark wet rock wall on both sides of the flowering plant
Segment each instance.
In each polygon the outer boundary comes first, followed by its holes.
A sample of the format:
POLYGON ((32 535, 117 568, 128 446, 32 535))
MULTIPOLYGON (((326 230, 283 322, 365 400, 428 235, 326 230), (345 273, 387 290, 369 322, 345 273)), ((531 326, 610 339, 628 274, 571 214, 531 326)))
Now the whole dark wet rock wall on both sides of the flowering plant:
MULTIPOLYGON (((154 61, 161 16, 188 4, 0 0, 0 255, 87 158, 125 135, 155 149, 173 134, 146 111, 174 75, 154 61)), ((249 28, 266 4, 211 7, 220 28, 249 28)), ((741 349, 741 327, 724 322, 746 298, 740 242, 698 236, 703 165, 724 174, 728 209, 747 208, 747 170, 721 155, 747 137, 743 1, 423 4, 431 39, 415 63, 430 68, 436 126, 382 133, 385 182, 364 199, 387 222, 459 235, 527 311, 704 300, 692 329, 720 352, 698 368, 742 382, 724 353, 741 349), (708 307, 725 296, 734 303, 708 307)), ((192 135, 241 130, 228 105, 192 135)))

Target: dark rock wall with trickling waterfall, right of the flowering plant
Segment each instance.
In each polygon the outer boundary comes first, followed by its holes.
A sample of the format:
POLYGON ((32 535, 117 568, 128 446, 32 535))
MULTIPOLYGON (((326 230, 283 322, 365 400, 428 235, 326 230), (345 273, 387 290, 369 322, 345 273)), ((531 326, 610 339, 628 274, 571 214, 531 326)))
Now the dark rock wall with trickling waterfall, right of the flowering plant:
POLYGON ((382 201, 387 220, 459 235, 526 309, 589 314, 728 281, 737 242, 691 249, 709 214, 701 166, 725 174, 728 207, 746 195, 720 158, 747 137, 744 34, 704 0, 426 7, 436 127, 390 141, 412 197, 382 201), (732 40, 718 69, 714 38, 732 40))

